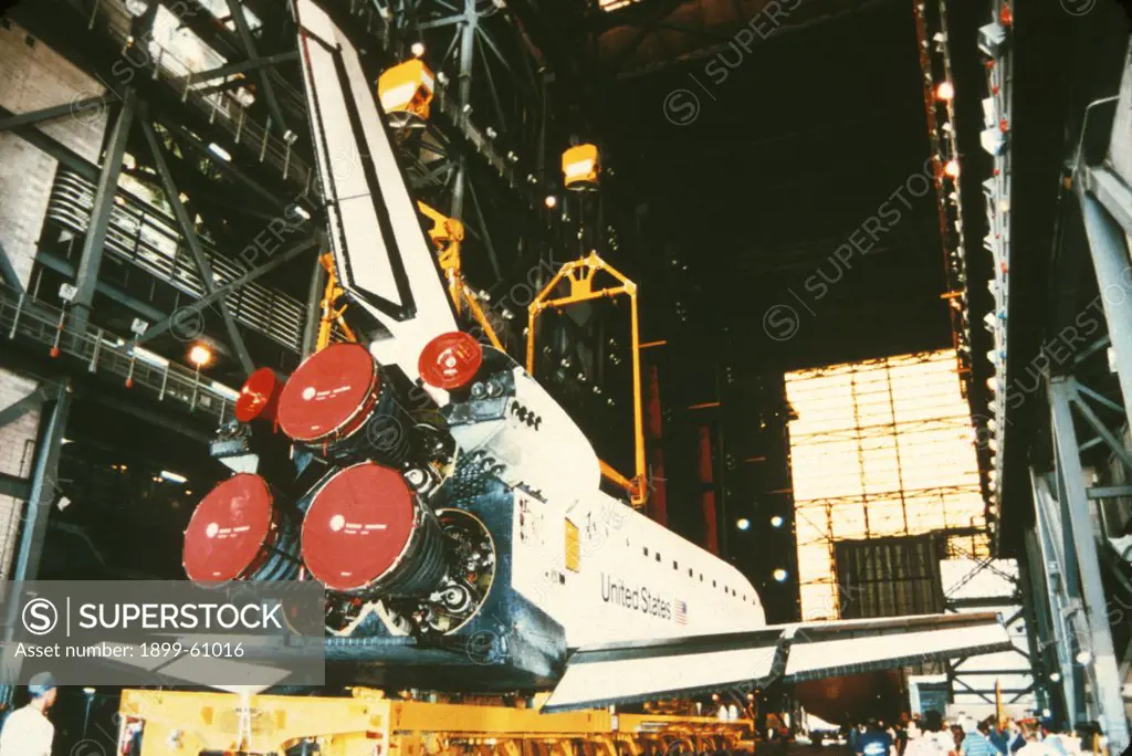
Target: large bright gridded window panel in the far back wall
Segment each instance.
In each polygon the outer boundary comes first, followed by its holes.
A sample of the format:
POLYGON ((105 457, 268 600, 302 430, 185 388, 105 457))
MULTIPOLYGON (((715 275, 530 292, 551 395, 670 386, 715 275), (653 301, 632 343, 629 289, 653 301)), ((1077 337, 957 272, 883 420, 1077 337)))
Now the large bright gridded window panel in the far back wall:
MULTIPOLYGON (((985 548, 975 435, 957 367, 955 352, 943 350, 787 375, 798 414, 790 446, 804 619, 847 611, 841 542, 938 532, 966 539, 969 550, 972 542, 985 548)), ((917 591, 932 595, 931 576, 891 555, 867 570, 899 585, 863 600, 851 616, 906 613, 920 601, 917 591)))

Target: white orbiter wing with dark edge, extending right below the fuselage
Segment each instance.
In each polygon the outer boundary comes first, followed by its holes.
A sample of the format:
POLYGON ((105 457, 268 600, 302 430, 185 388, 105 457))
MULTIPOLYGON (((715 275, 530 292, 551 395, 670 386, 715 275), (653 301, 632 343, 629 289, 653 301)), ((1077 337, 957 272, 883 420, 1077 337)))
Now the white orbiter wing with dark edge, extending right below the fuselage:
POLYGON ((1009 651, 995 612, 797 622, 751 633, 583 647, 544 712, 803 681, 1009 651))

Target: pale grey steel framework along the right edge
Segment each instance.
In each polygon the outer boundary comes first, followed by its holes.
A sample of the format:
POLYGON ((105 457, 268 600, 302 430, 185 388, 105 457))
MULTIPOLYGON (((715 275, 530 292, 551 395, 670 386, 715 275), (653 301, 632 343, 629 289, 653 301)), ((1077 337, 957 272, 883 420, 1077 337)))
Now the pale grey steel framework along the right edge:
MULTIPOLYGON (((1132 103, 1132 65, 1124 76, 1126 108, 1132 103)), ((1047 359, 1041 371, 1048 438, 1034 445, 1039 453, 1030 469, 1035 525, 1026 534, 1044 678, 1058 694, 1069 721, 1101 723, 1113 753, 1129 744, 1122 688, 1132 663, 1132 648, 1117 648, 1114 642, 1114 630, 1123 630, 1126 619, 1114 620, 1124 616, 1114 611, 1115 594, 1106 593, 1106 585, 1117 581, 1105 579, 1103 559, 1108 538, 1126 526, 1123 500, 1132 480, 1126 444, 1132 418, 1132 266, 1125 241, 1132 233, 1132 177, 1120 175, 1108 161, 1117 140, 1127 136, 1112 132, 1116 105, 1117 98, 1110 97, 1086 111, 1070 179, 1073 190, 1062 198, 1062 222, 1078 220, 1083 233, 1069 240, 1063 234, 1058 249, 1065 265, 1080 264, 1087 270, 1091 263, 1099 293, 1084 309, 1079 301, 1061 302, 1056 309, 1071 313, 1071 323, 1080 311, 1103 315, 1107 335, 1071 349, 1072 360, 1057 359, 1056 342, 1047 342, 1047 353, 1055 358, 1047 359), (1082 443, 1079 431, 1090 438, 1082 443)))

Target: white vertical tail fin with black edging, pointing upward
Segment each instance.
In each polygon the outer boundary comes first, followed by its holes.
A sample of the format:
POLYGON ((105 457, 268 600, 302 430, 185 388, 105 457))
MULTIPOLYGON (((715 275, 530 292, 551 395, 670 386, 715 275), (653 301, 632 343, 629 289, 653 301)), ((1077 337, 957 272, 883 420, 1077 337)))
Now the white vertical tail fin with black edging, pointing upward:
POLYGON ((375 356, 415 379, 429 340, 457 329, 452 302, 357 48, 312 0, 294 0, 294 14, 334 264, 387 332, 375 356))

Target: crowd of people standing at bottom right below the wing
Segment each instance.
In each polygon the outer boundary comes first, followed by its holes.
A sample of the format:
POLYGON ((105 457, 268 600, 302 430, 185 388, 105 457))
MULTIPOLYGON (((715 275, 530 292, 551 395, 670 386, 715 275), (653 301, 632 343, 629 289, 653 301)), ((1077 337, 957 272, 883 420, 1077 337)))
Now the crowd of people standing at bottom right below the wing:
POLYGON ((1083 756, 1104 753, 1104 738, 1096 729, 1061 732, 1037 720, 992 716, 978 721, 960 715, 945 721, 938 712, 924 718, 885 724, 871 720, 849 732, 856 756, 1083 756))

